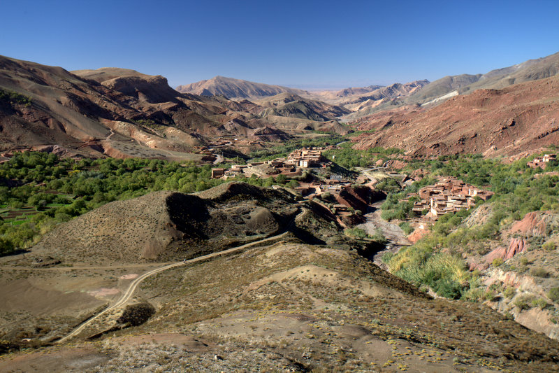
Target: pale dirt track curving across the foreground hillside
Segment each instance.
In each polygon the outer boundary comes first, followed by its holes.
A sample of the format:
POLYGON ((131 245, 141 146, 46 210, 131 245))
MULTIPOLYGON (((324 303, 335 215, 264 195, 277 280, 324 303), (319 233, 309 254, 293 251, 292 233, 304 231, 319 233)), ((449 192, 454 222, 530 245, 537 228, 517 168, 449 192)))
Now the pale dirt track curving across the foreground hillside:
POLYGON ((180 267, 181 265, 187 265, 187 264, 190 264, 190 263, 200 262, 202 260, 206 260, 206 259, 210 259, 210 258, 215 258, 216 256, 224 255, 224 254, 228 254, 228 253, 233 253, 235 251, 242 250, 243 248, 247 248, 249 246, 262 244, 263 242, 266 242, 266 241, 272 241, 274 239, 282 238, 286 234, 289 233, 289 228, 291 227, 291 225, 293 225, 295 220, 297 218, 299 218, 300 216, 303 216, 304 214, 305 214, 305 210, 298 213, 298 215, 295 218, 293 218, 291 223, 289 223, 289 225, 287 227, 287 230, 285 232, 283 232, 282 234, 277 234, 277 236, 268 237, 267 239, 261 239, 260 241, 254 241, 254 242, 251 242, 249 244, 244 244, 242 246, 236 246, 236 247, 233 247, 233 248, 228 248, 227 250, 219 251, 218 253, 211 253, 211 254, 208 254, 208 255, 202 255, 198 258, 185 260, 184 262, 175 262, 175 263, 172 263, 170 265, 164 265, 163 267, 159 267, 159 268, 156 268, 156 269, 152 269, 149 272, 145 272, 145 274, 143 274, 142 276, 139 276, 138 278, 136 278, 134 281, 132 281, 130 283, 130 286, 128 287, 126 292, 124 292, 122 297, 120 297, 120 299, 115 304, 113 304, 112 306, 104 309, 103 311, 101 311, 99 314, 96 314, 92 318, 87 319, 87 321, 85 321, 80 326, 78 326, 78 328, 75 328, 72 332, 70 332, 70 334, 66 335, 65 337, 62 337, 56 343, 59 344, 59 343, 62 343, 62 342, 66 342, 68 339, 70 339, 72 337, 75 337, 76 335, 80 334, 80 332, 82 332, 82 330, 87 328, 97 318, 100 318, 101 316, 103 316, 104 314, 107 314, 108 312, 112 311, 113 309, 117 309, 117 308, 123 306, 124 304, 126 304, 126 302, 128 302, 130 300, 133 293, 136 291, 136 288, 138 288, 138 285, 140 285, 140 283, 142 281, 144 281, 145 279, 147 279, 148 277, 153 276, 154 274, 158 274, 159 272, 164 272, 167 269, 180 267))

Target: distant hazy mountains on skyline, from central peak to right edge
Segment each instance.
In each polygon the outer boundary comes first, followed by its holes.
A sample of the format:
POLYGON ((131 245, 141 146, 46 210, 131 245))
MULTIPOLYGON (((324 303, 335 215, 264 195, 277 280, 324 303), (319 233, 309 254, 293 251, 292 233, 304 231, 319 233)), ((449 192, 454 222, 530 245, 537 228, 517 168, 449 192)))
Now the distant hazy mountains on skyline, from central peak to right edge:
POLYGON ((555 76, 558 71, 559 53, 556 53, 488 73, 445 76, 433 82, 415 80, 409 83, 394 83, 386 87, 370 85, 348 87, 337 91, 308 92, 279 85, 216 76, 210 80, 180 85, 177 90, 206 96, 223 94, 229 99, 262 99, 279 93, 293 93, 343 106, 351 111, 347 119, 353 120, 395 106, 440 104, 445 99, 458 94, 467 94, 478 89, 501 89, 516 83, 555 76))

